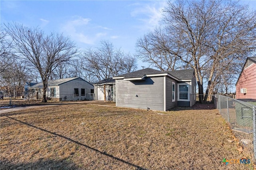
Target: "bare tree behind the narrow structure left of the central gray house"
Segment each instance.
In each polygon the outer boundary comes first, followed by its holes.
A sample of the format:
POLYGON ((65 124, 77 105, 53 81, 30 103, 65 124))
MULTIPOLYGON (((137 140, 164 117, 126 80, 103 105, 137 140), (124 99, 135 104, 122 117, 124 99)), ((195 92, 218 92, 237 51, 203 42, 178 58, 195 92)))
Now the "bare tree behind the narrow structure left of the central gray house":
POLYGON ((101 41, 101 47, 87 49, 81 57, 83 69, 90 72, 99 81, 136 69, 136 59, 115 49, 109 41, 101 41))

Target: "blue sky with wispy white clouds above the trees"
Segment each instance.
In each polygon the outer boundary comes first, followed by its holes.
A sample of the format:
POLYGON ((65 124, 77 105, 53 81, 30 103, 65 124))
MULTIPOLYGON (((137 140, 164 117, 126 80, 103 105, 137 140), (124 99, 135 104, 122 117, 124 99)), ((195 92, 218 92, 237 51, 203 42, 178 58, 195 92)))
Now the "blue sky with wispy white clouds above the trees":
MULTIPOLYGON (((109 40, 126 53, 157 26, 167 1, 135 0, 0 0, 0 23, 17 22, 40 27, 46 33, 64 33, 81 49, 109 40)), ((241 1, 256 9, 256 0, 241 1)), ((146 63, 138 61, 138 69, 146 63)))

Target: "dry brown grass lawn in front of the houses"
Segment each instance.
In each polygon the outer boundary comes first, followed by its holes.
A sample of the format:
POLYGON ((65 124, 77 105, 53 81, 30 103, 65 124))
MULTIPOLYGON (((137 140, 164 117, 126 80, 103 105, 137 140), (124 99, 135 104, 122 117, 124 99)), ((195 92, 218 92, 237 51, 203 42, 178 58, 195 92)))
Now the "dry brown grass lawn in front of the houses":
POLYGON ((222 163, 247 155, 237 150, 216 109, 158 112, 69 104, 0 118, 1 170, 253 169, 222 163))

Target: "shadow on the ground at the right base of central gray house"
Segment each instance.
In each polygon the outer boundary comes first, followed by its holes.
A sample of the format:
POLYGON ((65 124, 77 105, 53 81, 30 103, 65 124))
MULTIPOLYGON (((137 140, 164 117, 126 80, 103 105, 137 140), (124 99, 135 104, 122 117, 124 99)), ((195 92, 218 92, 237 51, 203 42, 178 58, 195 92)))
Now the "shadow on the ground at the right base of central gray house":
POLYGON ((196 103, 192 107, 174 107, 169 111, 181 111, 181 110, 212 110, 216 109, 212 103, 196 103))

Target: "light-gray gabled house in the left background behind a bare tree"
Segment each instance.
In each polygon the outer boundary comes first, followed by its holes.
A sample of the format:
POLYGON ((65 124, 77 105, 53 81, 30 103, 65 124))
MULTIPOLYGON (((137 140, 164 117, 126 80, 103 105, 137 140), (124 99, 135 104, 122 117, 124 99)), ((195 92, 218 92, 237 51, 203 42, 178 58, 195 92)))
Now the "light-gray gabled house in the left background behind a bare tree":
MULTIPOLYGON (((29 88, 30 96, 34 96, 34 99, 41 99, 42 88, 42 82, 31 86, 29 88)), ((93 85, 80 77, 63 78, 48 81, 46 97, 55 101, 90 100, 90 95, 88 94, 93 93, 93 91, 93 85)))

